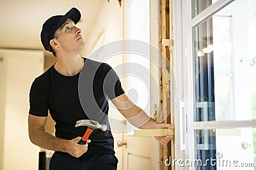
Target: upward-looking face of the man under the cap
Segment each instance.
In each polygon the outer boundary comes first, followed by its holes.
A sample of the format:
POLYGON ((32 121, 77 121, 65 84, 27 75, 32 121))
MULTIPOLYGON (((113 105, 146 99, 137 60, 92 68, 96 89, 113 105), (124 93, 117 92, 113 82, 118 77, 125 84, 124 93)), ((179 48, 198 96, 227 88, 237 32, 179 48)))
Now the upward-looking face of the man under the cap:
POLYGON ((80 52, 84 48, 84 39, 81 34, 81 29, 77 28, 74 22, 68 19, 55 34, 57 37, 56 42, 59 45, 58 50, 66 52, 77 51, 80 52))

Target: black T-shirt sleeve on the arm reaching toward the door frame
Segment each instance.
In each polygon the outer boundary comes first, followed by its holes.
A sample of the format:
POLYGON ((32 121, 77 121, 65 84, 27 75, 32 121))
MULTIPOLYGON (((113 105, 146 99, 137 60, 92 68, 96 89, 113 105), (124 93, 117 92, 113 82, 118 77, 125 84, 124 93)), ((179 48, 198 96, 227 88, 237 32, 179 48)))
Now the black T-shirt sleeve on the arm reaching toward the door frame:
POLYGON ((119 80, 118 75, 115 70, 104 63, 106 69, 106 76, 104 78, 104 91, 108 94, 109 99, 114 99, 115 97, 124 94, 124 89, 122 88, 121 81, 119 80))

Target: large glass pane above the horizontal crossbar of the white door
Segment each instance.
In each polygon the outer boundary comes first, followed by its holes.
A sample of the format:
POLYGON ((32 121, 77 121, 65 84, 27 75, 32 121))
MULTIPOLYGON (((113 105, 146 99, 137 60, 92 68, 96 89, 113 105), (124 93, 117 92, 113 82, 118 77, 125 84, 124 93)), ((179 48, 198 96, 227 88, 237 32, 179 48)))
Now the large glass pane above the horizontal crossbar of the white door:
POLYGON ((195 122, 256 118, 253 6, 234 1, 192 28, 195 122))

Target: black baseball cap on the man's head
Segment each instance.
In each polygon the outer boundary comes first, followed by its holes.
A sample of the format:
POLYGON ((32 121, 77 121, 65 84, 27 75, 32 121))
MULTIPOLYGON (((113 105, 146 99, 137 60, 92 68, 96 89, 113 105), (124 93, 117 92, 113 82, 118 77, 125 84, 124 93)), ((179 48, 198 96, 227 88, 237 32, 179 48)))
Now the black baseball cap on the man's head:
POLYGON ((50 40, 54 38, 54 32, 63 25, 68 18, 70 18, 74 24, 77 24, 81 18, 81 13, 77 8, 72 8, 65 15, 55 15, 45 21, 41 31, 41 42, 45 50, 52 52, 50 40))

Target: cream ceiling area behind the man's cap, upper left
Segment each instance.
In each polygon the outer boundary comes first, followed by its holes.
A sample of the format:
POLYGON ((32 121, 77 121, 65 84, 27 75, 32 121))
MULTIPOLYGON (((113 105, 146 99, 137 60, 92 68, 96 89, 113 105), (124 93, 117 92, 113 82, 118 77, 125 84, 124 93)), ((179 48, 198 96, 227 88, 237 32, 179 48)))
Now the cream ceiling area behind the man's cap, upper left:
POLYGON ((43 49, 40 41, 42 24, 52 15, 64 15, 70 8, 81 11, 84 37, 107 0, 0 0, 0 48, 43 49))

